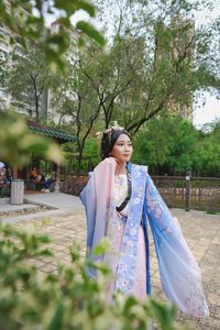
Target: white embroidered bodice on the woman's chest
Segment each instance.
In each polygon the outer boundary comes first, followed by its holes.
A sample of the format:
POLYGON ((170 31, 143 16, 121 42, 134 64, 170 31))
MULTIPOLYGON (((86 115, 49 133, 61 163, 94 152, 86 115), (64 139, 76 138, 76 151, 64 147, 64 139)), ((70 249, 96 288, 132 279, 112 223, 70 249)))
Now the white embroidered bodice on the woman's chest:
MULTIPOLYGON (((127 174, 119 174, 114 176, 114 201, 116 206, 120 206, 128 196, 128 177, 127 174)), ((120 212, 128 216, 129 202, 125 208, 120 212)))

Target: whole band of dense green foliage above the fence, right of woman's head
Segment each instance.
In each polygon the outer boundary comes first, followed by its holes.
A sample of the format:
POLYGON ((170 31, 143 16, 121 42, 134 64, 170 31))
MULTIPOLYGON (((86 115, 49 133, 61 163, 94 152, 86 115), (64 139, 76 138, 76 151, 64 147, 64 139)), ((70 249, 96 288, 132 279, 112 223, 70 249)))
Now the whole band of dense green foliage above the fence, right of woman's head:
POLYGON ((148 122, 134 140, 133 161, 155 174, 218 176, 219 123, 209 133, 197 131, 182 117, 163 116, 148 122), (156 132, 156 134, 155 134, 156 132))

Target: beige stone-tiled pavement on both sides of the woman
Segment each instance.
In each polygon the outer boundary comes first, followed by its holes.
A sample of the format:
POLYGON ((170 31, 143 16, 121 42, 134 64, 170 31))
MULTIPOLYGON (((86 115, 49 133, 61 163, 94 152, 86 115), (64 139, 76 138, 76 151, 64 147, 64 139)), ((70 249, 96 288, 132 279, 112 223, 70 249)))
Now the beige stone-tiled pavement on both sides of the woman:
MULTIPOLYGON (((4 222, 14 222, 19 229, 26 229, 29 226, 35 228, 41 234, 48 234, 52 239, 50 248, 54 257, 36 258, 35 265, 43 273, 53 273, 57 270, 57 261, 69 264, 69 246, 73 243, 79 244, 81 256, 86 253, 86 217, 85 211, 77 197, 65 194, 38 194, 41 196, 29 196, 33 204, 43 198, 47 199, 51 207, 58 209, 42 213, 23 216, 19 218, 6 218, 4 222), (51 196, 50 196, 51 195, 51 196), (56 196, 55 196, 56 195, 56 196), (67 197, 67 199, 65 199, 67 197), (33 198, 33 199, 32 199, 33 198)), ((207 215, 201 211, 185 212, 180 209, 173 209, 173 215, 179 219, 184 235, 191 249, 202 273, 204 288, 210 307, 210 317, 200 320, 190 320, 196 329, 219 330, 220 329, 220 216, 207 215)), ((152 289, 153 296, 165 299, 161 288, 157 262, 151 238, 152 253, 152 289)), ((178 314, 177 322, 189 321, 185 316, 178 314)))

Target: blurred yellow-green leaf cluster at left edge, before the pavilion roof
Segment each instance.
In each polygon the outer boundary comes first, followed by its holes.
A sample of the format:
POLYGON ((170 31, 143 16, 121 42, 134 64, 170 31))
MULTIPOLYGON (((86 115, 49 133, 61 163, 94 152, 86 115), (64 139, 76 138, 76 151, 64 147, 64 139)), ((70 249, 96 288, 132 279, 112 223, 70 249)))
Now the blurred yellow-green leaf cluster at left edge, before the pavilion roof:
POLYGON ((0 113, 0 160, 9 166, 29 164, 35 153, 48 161, 61 164, 59 146, 52 140, 28 132, 25 120, 15 114, 0 113))

